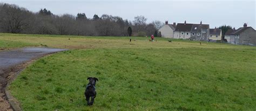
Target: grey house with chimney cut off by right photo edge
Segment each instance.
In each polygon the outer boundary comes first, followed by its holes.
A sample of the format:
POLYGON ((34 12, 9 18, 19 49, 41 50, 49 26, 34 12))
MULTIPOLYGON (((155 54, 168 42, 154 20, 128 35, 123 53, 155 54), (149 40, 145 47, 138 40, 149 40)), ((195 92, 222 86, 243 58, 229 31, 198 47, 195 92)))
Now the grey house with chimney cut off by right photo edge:
POLYGON ((244 27, 240 27, 231 33, 234 37, 234 44, 240 45, 256 45, 256 31, 251 27, 247 27, 247 24, 244 24, 244 27))

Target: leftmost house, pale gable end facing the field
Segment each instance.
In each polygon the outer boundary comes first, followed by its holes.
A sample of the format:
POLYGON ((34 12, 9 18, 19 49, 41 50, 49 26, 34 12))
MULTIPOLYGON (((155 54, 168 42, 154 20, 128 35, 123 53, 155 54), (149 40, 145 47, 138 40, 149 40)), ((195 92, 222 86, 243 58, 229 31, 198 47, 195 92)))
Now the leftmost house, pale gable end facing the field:
POLYGON ((168 21, 165 22, 165 25, 161 27, 158 31, 161 32, 161 36, 164 38, 173 38, 173 31, 176 29, 176 23, 168 24, 168 21))

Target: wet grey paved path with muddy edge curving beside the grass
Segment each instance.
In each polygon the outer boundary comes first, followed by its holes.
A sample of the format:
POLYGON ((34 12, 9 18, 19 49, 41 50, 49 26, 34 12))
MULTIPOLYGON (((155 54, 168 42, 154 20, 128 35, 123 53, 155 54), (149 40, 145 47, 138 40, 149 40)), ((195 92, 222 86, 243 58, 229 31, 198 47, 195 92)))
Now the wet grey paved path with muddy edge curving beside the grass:
POLYGON ((15 74, 24 68, 30 60, 43 57, 46 54, 66 51, 58 48, 18 48, 11 51, 0 51, 0 110, 12 110, 6 100, 5 87, 15 74), (23 66, 22 66, 23 65, 23 66))

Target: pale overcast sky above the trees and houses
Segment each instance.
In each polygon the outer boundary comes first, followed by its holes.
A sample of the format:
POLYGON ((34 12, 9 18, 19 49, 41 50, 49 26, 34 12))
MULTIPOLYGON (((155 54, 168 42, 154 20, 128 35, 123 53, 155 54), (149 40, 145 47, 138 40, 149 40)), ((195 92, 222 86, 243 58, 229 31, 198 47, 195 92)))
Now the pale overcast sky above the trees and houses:
POLYGON ((134 16, 143 15, 147 23, 160 20, 169 23, 210 24, 211 28, 220 25, 231 25, 238 29, 244 23, 256 27, 255 0, 0 0, 2 3, 17 4, 30 11, 37 12, 46 8, 56 15, 69 13, 76 15, 83 12, 88 18, 97 14, 120 16, 133 20, 134 16))

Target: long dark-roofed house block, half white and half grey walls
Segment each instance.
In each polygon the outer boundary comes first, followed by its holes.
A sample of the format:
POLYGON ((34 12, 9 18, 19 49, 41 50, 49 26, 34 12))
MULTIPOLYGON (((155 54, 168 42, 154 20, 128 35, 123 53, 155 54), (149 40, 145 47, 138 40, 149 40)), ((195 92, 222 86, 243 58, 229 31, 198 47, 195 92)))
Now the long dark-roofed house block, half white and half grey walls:
POLYGON ((208 40, 209 24, 178 23, 173 33, 173 38, 190 40, 208 40))

